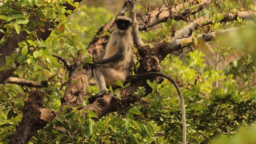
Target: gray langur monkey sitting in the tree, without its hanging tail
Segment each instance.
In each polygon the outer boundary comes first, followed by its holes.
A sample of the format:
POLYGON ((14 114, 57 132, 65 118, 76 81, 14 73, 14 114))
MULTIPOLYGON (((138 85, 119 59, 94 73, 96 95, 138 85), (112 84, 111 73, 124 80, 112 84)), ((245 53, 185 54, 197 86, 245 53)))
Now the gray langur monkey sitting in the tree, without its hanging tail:
POLYGON ((130 75, 133 59, 131 32, 132 19, 127 16, 118 16, 103 59, 93 65, 93 74, 99 93, 88 98, 90 103, 103 96, 108 86, 117 80, 124 83, 130 75))

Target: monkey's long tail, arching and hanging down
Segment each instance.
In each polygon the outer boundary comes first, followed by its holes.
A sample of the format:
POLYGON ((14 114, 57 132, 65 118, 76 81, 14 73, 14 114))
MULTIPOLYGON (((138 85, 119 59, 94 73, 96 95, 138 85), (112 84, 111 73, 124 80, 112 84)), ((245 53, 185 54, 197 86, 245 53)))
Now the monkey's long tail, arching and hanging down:
POLYGON ((182 96, 182 93, 180 91, 180 88, 178 87, 178 84, 168 75, 163 74, 161 72, 146 72, 143 74, 138 74, 136 76, 136 78, 145 78, 148 76, 162 76, 164 78, 167 78, 170 82, 172 82, 172 84, 174 85, 174 87, 176 88, 179 97, 180 97, 180 103, 181 103, 181 111, 182 111, 182 127, 183 127, 183 140, 182 140, 182 144, 187 144, 187 136, 186 136, 186 112, 185 112, 185 102, 182 96))

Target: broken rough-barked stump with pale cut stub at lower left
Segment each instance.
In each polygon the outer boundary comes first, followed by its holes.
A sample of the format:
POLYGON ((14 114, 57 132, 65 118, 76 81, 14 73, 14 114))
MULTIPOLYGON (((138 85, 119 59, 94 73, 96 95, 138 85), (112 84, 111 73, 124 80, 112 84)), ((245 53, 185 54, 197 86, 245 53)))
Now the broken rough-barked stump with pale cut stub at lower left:
POLYGON ((43 106, 43 99, 42 91, 37 89, 30 91, 30 97, 22 108, 23 118, 16 132, 10 136, 9 144, 27 144, 38 130, 55 118, 54 111, 43 106))

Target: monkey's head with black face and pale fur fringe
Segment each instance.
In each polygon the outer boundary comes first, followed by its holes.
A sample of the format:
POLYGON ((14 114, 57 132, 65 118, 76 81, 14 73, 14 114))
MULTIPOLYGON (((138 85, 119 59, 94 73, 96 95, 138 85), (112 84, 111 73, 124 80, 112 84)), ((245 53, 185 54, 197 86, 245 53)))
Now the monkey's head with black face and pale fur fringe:
POLYGON ((118 16, 115 20, 115 25, 119 30, 128 30, 131 29, 132 19, 127 16, 118 16))

